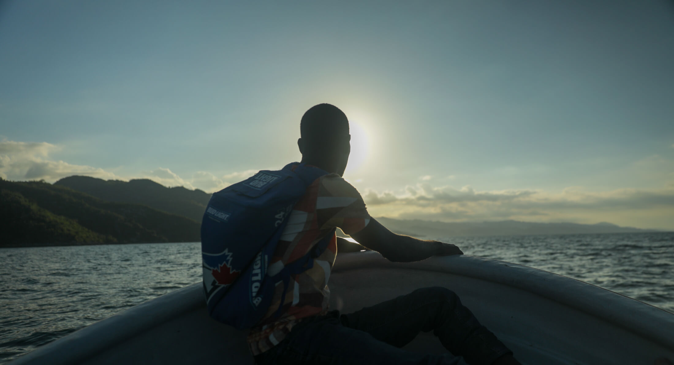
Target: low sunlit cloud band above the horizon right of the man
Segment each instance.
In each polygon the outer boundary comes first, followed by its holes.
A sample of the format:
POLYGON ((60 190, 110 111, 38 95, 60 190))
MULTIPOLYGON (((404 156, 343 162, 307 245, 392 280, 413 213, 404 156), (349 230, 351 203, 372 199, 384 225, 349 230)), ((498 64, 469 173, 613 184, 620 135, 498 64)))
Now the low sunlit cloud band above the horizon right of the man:
POLYGON ((614 222, 646 228, 673 228, 674 184, 661 189, 558 192, 531 189, 477 191, 470 186, 408 186, 398 193, 368 190, 363 195, 373 216, 445 222, 524 220, 530 222, 614 222))

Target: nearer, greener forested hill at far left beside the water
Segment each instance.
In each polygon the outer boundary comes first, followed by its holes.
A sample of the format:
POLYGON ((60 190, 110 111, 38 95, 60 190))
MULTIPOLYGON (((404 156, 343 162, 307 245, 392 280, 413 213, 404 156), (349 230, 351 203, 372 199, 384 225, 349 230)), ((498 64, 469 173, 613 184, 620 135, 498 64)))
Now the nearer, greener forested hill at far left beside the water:
POLYGON ((0 247, 200 240, 200 221, 49 183, 0 179, 0 202, 0 247))

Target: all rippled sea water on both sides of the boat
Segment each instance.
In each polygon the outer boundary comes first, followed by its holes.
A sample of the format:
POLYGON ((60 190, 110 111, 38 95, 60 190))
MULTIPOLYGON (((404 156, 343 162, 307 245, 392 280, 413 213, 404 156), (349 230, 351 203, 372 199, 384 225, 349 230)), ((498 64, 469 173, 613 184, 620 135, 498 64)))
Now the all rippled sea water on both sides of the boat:
MULTIPOLYGON (((440 238, 674 312, 674 233, 440 238)), ((201 280, 200 244, 0 249, 0 364, 201 280)))

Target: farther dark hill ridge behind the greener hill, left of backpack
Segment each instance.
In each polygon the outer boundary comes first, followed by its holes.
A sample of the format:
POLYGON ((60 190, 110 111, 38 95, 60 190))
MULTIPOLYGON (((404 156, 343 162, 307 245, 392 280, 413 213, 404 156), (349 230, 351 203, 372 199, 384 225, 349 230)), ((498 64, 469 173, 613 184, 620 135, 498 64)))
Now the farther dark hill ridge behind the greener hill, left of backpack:
POLYGON ((210 194, 199 189, 168 188, 148 179, 101 180, 89 176, 69 176, 54 183, 61 187, 87 193, 99 199, 119 203, 137 203, 176 215, 183 215, 196 222, 202 221, 210 194))

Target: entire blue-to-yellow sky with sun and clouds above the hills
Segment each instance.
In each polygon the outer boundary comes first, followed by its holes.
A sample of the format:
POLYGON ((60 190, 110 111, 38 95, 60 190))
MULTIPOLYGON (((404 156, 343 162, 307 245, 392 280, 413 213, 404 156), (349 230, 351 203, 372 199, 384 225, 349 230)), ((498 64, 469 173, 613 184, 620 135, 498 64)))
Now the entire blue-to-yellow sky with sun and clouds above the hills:
POLYGON ((217 191, 350 120, 371 215, 674 230, 671 1, 3 1, 0 177, 217 191))

